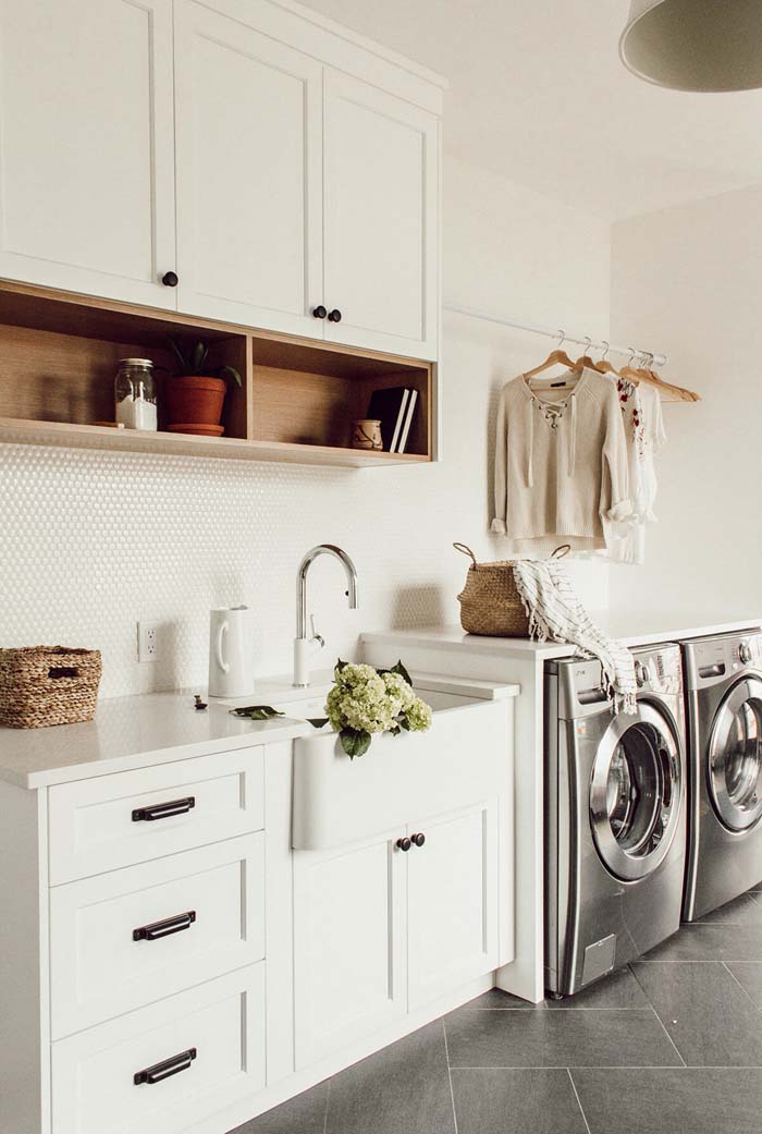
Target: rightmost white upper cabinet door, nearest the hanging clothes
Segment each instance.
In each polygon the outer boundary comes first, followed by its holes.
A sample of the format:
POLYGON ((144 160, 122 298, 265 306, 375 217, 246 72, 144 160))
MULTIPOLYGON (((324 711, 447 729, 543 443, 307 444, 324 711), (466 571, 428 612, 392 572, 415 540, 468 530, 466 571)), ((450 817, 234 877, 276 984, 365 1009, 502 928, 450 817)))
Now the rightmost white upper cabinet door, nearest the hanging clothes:
POLYGON ((435 358, 438 119, 329 68, 324 100, 325 338, 435 358))

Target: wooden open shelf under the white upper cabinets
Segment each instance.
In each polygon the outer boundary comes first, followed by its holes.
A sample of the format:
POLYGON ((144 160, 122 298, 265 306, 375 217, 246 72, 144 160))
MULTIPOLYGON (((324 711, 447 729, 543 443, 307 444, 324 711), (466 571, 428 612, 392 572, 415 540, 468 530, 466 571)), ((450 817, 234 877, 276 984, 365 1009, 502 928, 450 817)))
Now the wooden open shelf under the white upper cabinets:
POLYGON ((318 340, 0 280, 0 441, 180 456, 386 467, 433 459, 432 365, 318 340), (221 438, 94 424, 113 420, 120 358, 170 369, 169 337, 203 338, 234 365, 221 438), (349 448, 373 390, 407 386, 418 405, 405 454, 349 448))

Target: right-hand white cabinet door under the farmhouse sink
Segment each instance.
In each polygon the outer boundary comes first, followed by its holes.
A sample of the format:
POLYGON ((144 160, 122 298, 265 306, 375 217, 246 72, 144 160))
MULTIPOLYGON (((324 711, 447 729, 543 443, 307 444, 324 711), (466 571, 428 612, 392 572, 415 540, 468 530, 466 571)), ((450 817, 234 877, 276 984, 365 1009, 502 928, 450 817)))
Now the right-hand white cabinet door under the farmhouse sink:
POLYGON ((498 822, 492 799, 408 828, 410 1009, 497 967, 498 822))

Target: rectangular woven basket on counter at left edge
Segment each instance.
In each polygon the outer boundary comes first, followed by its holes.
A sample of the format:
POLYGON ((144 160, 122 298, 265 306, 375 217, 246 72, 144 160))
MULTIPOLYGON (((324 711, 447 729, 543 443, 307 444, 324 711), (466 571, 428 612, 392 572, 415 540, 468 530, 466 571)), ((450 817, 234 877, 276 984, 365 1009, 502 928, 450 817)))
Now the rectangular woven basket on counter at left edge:
POLYGON ((0 650, 0 725, 43 728, 92 720, 101 669, 100 650, 0 650))

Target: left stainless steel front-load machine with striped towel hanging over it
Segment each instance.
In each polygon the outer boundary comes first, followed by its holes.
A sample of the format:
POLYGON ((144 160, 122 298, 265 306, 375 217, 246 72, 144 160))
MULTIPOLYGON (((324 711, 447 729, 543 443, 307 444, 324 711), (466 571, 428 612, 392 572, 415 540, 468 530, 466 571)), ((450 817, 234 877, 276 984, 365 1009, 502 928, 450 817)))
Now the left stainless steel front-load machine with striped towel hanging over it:
POLYGON ((680 924, 686 850, 680 650, 634 650, 637 713, 598 661, 545 663, 545 988, 570 995, 680 924))

